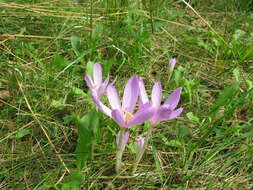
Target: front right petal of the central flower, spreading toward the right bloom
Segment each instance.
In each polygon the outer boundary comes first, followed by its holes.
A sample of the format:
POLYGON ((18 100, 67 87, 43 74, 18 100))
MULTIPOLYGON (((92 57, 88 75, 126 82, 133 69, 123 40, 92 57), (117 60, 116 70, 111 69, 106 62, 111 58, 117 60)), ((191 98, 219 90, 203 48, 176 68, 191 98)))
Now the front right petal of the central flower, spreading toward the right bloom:
POLYGON ((134 114, 134 117, 131 119, 131 121, 127 123, 127 127, 138 125, 149 120, 154 115, 154 113, 155 113, 155 108, 153 108, 151 102, 144 104, 134 114))

